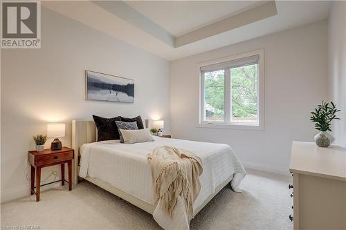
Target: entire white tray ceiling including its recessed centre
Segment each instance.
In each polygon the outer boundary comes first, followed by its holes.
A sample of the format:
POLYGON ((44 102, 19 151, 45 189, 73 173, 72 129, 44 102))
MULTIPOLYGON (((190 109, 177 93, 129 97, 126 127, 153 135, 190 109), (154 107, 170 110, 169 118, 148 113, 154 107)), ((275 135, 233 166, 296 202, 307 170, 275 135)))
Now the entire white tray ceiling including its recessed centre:
POLYGON ((327 19, 331 3, 43 1, 42 5, 154 55, 175 60, 327 19), (259 17, 251 19, 256 14, 259 17), (92 19, 88 15, 93 15, 92 19), (185 37, 190 39, 177 44, 185 37))

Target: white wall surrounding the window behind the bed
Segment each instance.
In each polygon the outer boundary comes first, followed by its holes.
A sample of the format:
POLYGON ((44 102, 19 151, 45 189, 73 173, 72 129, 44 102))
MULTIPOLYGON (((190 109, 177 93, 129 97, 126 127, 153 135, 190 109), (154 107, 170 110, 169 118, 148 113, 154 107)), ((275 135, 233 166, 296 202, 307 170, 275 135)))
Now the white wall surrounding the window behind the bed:
POLYGON ((171 127, 177 138, 230 144, 246 166, 288 173, 291 142, 312 141, 310 111, 327 97, 327 21, 172 61, 171 127), (264 131, 197 128, 197 63, 264 48, 264 131))

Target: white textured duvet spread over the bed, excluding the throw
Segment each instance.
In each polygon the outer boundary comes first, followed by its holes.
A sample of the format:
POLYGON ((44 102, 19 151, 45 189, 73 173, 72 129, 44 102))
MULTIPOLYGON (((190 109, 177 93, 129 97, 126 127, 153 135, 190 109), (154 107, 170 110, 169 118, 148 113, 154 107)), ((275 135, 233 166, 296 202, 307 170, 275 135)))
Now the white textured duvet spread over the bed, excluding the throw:
MULTIPOLYGON (((201 157, 203 173, 200 176, 201 191, 194 202, 198 209, 209 195, 215 193, 217 186, 233 175, 230 182, 234 191, 239 190, 246 171, 237 155, 227 144, 192 142, 163 137, 154 137, 154 142, 121 144, 117 140, 93 142, 80 148, 80 177, 87 175, 98 178, 134 197, 154 203, 152 173, 147 162, 147 155, 157 146, 174 146, 191 151, 201 157)), ((179 201, 178 204, 182 204, 179 201)), ((183 207, 177 205, 177 209, 183 207)), ((185 210, 185 208, 184 208, 185 210)), ((183 211, 181 209, 180 211, 183 211)), ((174 212, 174 220, 165 216, 160 210, 154 211, 154 219, 164 229, 188 229, 187 215, 179 216, 174 212)))

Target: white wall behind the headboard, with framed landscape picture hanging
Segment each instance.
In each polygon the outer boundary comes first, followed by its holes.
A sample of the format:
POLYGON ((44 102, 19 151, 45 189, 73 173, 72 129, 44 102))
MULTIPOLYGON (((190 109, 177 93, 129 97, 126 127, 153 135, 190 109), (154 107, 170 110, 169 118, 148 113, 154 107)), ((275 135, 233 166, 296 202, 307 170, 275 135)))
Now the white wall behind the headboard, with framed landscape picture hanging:
POLYGON ((93 114, 161 118, 170 133, 169 62, 45 8, 42 48, 1 50, 1 77, 1 202, 29 194, 27 151, 48 122, 66 123, 66 146, 71 120, 93 114), (134 104, 86 101, 84 70, 134 79, 134 104))

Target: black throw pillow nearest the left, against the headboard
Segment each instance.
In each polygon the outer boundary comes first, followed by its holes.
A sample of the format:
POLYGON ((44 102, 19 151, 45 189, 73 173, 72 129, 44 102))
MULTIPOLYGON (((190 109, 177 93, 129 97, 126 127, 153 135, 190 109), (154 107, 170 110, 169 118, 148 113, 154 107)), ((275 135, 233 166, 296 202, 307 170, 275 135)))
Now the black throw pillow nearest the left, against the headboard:
POLYGON ((105 118, 93 115, 93 120, 98 128, 98 142, 104 140, 119 140, 119 131, 116 121, 121 121, 120 117, 105 118))

